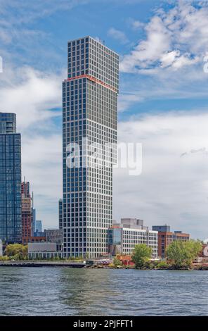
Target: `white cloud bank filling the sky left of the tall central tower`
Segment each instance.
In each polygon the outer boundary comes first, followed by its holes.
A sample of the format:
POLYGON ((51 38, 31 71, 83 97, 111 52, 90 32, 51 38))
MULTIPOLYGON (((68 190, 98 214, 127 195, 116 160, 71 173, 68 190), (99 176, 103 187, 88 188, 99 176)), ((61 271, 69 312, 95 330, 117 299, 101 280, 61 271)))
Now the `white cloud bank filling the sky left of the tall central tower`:
POLYGON ((65 73, 33 68, 6 68, 0 74, 1 111, 17 114, 22 135, 22 177, 34 190, 37 217, 46 227, 58 226, 58 199, 62 196, 61 82, 65 73))

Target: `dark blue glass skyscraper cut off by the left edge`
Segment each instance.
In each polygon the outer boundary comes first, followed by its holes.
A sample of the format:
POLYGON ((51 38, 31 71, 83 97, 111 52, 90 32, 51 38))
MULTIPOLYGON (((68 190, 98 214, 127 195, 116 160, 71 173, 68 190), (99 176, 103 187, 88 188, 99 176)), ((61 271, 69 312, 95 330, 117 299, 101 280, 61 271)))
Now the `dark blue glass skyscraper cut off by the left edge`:
POLYGON ((21 242, 21 136, 16 116, 0 113, 0 239, 21 242))

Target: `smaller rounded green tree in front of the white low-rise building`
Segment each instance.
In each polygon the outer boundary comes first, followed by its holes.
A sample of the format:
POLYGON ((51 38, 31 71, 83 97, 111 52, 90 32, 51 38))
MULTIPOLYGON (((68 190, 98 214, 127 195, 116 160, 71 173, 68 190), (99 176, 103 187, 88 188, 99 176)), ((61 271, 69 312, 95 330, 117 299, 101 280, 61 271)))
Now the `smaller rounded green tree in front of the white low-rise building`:
POLYGON ((134 248, 132 261, 135 263, 136 268, 142 268, 145 263, 151 258, 152 249, 145 244, 138 244, 134 248))

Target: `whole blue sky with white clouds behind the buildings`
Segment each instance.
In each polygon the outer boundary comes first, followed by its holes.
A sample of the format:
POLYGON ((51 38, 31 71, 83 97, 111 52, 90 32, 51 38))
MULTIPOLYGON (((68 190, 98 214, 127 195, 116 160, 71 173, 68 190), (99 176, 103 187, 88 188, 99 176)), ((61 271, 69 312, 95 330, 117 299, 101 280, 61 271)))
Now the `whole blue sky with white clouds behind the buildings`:
POLYGON ((58 227, 67 41, 91 35, 121 58, 120 142, 143 173, 114 170, 114 219, 208 237, 208 1, 0 0, 0 111, 17 114, 22 179, 43 227, 58 227))

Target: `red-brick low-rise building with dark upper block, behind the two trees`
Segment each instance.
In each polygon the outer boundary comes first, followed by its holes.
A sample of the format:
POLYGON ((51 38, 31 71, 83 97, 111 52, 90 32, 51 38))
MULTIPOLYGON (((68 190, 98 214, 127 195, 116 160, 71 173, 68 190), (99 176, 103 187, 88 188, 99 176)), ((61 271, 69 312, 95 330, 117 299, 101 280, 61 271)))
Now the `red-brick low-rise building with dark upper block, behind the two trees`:
POLYGON ((158 256, 161 258, 166 257, 168 246, 175 240, 186 242, 190 239, 188 233, 182 231, 171 232, 169 225, 153 225, 152 230, 158 231, 158 256))

